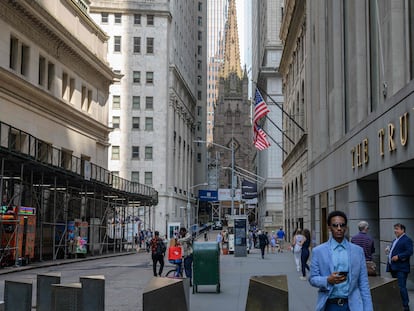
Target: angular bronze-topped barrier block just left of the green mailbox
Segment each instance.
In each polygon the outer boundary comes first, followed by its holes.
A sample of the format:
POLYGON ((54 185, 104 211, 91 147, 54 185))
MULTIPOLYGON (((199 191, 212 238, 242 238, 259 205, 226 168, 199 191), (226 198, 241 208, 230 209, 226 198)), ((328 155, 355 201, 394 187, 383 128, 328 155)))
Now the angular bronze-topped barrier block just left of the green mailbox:
POLYGON ((188 279, 154 277, 142 294, 143 311, 190 310, 188 279))

